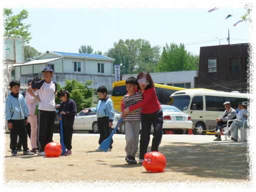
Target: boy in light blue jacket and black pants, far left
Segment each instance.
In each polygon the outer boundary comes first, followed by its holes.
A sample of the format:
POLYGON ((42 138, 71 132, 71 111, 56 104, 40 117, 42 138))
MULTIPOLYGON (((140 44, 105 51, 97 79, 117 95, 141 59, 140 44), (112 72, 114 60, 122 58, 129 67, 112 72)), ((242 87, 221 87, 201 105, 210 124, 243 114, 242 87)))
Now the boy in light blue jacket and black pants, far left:
POLYGON ((10 129, 11 155, 17 155, 17 135, 23 146, 23 155, 34 154, 27 147, 26 124, 29 113, 23 95, 18 93, 20 83, 17 80, 11 80, 9 85, 11 92, 5 100, 5 118, 10 129))

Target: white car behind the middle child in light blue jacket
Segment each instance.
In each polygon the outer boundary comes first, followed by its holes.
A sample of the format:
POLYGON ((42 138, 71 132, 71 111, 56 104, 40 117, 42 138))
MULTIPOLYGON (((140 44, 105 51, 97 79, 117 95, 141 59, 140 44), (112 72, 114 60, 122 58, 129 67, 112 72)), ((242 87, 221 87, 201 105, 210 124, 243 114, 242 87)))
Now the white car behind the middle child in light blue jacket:
MULTIPOLYGON (((120 112, 114 109, 114 120, 112 129, 116 126, 116 122, 120 119, 120 112)), ((99 133, 96 112, 82 112, 75 114, 74 130, 88 130, 89 132, 99 133)))

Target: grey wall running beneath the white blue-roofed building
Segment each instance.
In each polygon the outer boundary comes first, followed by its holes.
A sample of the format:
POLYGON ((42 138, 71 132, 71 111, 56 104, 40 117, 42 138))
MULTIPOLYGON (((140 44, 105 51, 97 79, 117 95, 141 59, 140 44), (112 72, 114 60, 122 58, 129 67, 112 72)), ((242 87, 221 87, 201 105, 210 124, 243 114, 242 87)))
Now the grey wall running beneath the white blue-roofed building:
MULTIPOLYGON (((29 78, 34 76, 42 76, 42 73, 25 74, 21 75, 20 83, 27 83, 29 78)), ((53 73, 52 80, 64 86, 65 80, 75 79, 79 82, 84 82, 85 80, 92 80, 92 85, 89 88, 97 89, 101 85, 105 85, 107 90, 112 90, 112 83, 114 82, 114 75, 98 75, 98 74, 82 74, 82 73, 53 73)))

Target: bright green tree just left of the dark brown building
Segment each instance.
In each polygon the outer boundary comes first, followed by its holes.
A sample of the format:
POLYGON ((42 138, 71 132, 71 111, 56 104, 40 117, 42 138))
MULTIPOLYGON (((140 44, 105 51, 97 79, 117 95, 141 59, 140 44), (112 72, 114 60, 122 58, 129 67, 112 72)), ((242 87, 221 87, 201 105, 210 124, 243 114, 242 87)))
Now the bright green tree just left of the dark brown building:
POLYGON ((163 46, 157 72, 197 70, 199 56, 185 49, 184 44, 167 43, 163 46))

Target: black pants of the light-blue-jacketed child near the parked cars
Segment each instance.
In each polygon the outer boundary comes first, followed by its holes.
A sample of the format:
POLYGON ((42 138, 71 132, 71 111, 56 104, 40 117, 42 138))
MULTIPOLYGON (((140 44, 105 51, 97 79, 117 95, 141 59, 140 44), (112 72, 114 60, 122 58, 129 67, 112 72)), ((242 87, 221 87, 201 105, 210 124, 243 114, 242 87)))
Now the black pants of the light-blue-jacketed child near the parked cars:
MULTIPOLYGON (((112 132, 112 127, 109 127, 109 117, 108 116, 103 116, 103 117, 98 117, 97 118, 97 123, 98 123, 98 130, 99 130, 99 139, 98 139, 98 144, 101 144, 101 142, 105 139, 108 138, 108 136, 112 132)), ((110 145, 109 148, 112 148, 112 143, 113 139, 111 138, 110 140, 110 145)))

